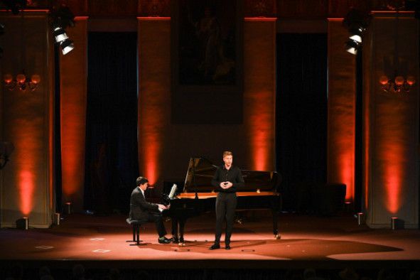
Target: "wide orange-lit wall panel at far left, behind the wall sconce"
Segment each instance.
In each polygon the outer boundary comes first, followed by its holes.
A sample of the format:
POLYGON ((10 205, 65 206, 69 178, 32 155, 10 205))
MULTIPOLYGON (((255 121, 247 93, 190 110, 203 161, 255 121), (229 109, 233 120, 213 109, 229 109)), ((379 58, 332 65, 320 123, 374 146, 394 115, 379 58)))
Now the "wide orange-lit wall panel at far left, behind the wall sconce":
POLYGON ((6 90, 2 95, 2 139, 14 143, 11 161, 1 171, 1 226, 14 226, 18 218, 29 218, 31 227, 48 227, 53 205, 50 203, 50 42, 46 12, 24 12, 19 16, 0 15, 6 25, 1 36, 4 58, 1 77, 25 71, 41 76, 38 88, 31 92, 6 90), (22 17, 23 16, 23 17, 22 17))

